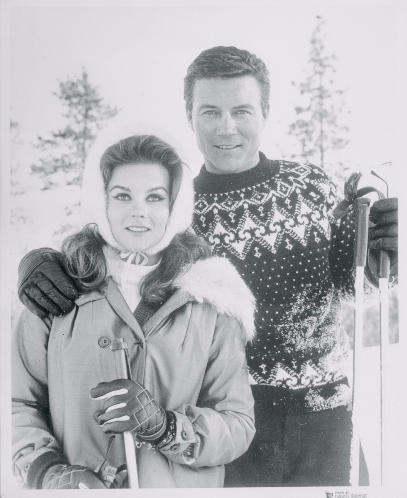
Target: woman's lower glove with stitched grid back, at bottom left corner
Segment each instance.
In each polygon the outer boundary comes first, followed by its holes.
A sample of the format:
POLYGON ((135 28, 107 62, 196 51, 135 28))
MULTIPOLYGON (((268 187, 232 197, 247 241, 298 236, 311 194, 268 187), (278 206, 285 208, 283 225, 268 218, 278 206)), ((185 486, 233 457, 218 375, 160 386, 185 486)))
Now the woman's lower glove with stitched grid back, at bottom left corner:
POLYGON ((91 469, 81 465, 57 464, 50 467, 42 480, 43 490, 107 489, 91 469))

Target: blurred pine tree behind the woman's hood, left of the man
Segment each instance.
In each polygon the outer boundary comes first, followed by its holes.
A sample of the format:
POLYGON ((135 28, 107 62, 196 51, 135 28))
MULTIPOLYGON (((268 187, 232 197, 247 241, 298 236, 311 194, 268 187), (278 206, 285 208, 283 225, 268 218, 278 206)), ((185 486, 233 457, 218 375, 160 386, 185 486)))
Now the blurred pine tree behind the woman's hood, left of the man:
POLYGON ((119 110, 105 104, 98 87, 88 81, 82 68, 80 78, 59 81, 59 91, 53 92, 66 108, 63 129, 51 131, 49 138, 38 136, 35 146, 43 154, 31 166, 31 171, 44 179, 44 189, 61 185, 80 184, 90 145, 110 118, 119 110))

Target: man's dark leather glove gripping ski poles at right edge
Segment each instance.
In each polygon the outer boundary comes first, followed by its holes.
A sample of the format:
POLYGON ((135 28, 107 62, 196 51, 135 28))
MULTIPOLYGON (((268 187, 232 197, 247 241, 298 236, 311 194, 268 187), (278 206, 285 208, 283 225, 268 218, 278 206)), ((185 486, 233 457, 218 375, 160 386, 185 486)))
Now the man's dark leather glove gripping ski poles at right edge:
POLYGON ((380 250, 386 250, 390 257, 390 276, 398 281, 398 202, 396 197, 380 199, 372 204, 369 221, 374 224, 369 228, 368 253, 365 275, 368 280, 379 287, 378 261, 380 250))

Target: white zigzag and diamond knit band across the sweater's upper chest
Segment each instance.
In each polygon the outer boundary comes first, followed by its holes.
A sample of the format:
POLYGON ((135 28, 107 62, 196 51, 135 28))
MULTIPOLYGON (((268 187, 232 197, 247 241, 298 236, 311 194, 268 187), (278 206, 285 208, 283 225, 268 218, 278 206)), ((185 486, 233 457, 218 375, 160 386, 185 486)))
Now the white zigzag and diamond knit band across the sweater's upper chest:
POLYGON ((215 252, 227 249, 242 260, 253 246, 275 253, 287 239, 306 247, 312 231, 329 237, 326 207, 333 207, 335 197, 327 181, 310 180, 312 171, 311 165, 301 164, 287 174, 282 163, 271 181, 213 194, 211 203, 199 196, 195 231, 215 252))

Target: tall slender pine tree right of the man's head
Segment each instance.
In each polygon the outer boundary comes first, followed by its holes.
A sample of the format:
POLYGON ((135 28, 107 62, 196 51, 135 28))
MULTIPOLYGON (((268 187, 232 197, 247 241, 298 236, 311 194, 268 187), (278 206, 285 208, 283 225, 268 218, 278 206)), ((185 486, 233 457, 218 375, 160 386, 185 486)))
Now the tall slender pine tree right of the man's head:
POLYGON ((342 124, 345 115, 344 91, 335 88, 335 55, 326 55, 325 21, 317 16, 318 23, 311 36, 310 58, 306 78, 292 82, 299 90, 302 105, 297 106, 297 121, 289 126, 289 134, 298 139, 299 154, 306 161, 320 165, 331 174, 343 179, 348 169, 337 152, 348 143, 349 128, 342 124))

